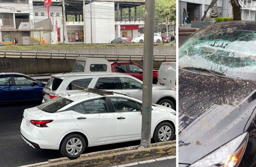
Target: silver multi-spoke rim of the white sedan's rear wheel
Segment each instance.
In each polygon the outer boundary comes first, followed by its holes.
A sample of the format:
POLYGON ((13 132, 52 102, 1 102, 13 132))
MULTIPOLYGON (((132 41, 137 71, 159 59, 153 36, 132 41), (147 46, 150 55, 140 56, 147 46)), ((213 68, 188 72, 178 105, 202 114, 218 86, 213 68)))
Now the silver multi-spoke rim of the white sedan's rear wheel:
POLYGON ((72 138, 66 144, 66 150, 70 155, 77 155, 81 152, 83 144, 80 139, 72 138))

